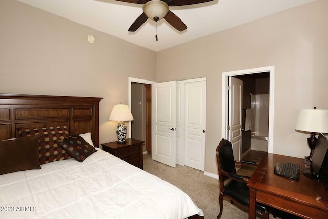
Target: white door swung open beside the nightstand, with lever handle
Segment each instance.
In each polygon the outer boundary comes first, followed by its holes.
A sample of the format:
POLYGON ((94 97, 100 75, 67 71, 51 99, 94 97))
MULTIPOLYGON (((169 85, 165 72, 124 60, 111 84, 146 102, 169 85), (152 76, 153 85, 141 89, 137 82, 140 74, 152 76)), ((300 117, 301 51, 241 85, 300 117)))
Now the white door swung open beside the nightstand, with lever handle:
POLYGON ((176 81, 152 85, 152 159, 175 167, 176 81))

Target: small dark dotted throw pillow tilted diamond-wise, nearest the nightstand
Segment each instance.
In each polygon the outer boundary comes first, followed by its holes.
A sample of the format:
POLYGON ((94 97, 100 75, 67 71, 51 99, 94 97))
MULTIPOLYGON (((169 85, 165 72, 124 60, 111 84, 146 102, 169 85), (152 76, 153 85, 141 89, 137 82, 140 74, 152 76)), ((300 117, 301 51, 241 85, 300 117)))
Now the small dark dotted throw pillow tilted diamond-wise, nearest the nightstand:
POLYGON ((75 160, 83 162, 88 156, 97 152, 83 137, 79 135, 72 135, 58 144, 64 148, 64 150, 71 155, 75 160))

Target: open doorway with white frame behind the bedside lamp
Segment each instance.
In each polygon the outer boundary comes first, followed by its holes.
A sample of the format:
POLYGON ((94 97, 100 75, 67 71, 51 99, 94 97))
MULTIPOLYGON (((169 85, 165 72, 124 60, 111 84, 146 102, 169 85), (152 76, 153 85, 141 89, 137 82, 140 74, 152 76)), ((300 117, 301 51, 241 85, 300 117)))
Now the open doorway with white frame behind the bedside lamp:
POLYGON ((151 154, 151 85, 156 82, 129 77, 129 108, 134 120, 129 122, 131 138, 145 141, 144 154, 151 154))

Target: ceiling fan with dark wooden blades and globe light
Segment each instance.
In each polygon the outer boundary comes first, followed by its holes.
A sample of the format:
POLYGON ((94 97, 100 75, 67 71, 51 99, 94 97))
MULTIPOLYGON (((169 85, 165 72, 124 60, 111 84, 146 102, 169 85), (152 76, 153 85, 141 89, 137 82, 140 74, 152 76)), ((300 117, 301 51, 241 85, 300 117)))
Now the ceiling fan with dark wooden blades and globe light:
MULTIPOLYGON (((187 29, 185 23, 176 16, 172 11, 169 10, 169 6, 182 6, 182 5, 193 5, 198 3, 210 2, 213 0, 117 0, 121 2, 144 4, 142 13, 130 26, 130 32, 134 32, 142 24, 144 24, 148 18, 156 22, 156 32, 157 32, 157 21, 164 18, 172 27, 179 31, 187 29)), ((156 34, 157 40, 157 34, 156 34)))

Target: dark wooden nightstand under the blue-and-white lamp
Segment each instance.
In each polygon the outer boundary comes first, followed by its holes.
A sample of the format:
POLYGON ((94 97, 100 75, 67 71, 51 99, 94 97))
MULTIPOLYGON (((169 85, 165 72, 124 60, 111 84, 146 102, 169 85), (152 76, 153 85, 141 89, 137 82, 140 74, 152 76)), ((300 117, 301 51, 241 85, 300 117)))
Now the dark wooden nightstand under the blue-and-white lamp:
POLYGON ((144 141, 129 138, 126 143, 119 144, 117 142, 109 142, 101 144, 103 150, 114 156, 132 164, 140 169, 144 169, 142 144, 144 141))

